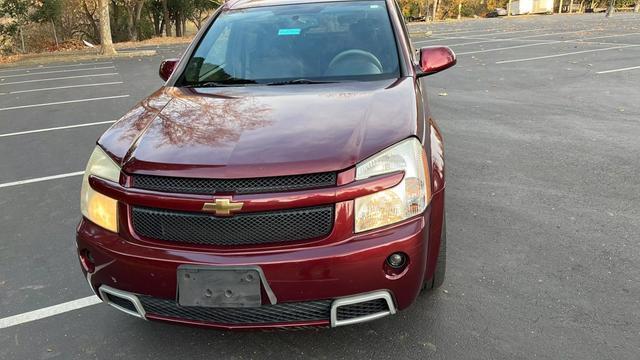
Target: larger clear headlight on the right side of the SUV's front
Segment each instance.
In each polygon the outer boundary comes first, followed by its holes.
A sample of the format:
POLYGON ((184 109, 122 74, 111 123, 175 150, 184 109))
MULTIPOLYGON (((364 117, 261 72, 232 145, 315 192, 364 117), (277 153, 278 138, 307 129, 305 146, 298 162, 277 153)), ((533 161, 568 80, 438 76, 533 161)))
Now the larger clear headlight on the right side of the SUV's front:
POLYGON ((404 171, 391 189, 355 199, 355 231, 397 223, 422 213, 431 200, 427 154, 416 138, 399 142, 356 165, 356 180, 404 171))

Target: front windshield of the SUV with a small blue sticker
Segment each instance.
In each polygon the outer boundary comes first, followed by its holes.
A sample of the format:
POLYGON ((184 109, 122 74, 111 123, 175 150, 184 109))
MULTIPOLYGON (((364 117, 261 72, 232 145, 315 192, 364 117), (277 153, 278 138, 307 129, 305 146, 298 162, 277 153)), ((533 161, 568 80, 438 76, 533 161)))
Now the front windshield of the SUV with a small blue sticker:
POLYGON ((384 1, 231 10, 213 22, 184 86, 373 81, 400 76, 384 1))

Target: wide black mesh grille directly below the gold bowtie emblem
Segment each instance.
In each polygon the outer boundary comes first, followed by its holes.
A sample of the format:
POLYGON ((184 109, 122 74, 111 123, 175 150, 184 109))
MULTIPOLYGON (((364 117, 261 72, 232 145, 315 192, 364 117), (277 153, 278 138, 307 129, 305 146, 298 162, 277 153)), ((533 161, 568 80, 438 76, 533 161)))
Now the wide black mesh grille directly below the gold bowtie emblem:
POLYGON ((309 240, 329 235, 334 206, 215 217, 204 213, 134 207, 133 229, 151 239, 239 246, 309 240))

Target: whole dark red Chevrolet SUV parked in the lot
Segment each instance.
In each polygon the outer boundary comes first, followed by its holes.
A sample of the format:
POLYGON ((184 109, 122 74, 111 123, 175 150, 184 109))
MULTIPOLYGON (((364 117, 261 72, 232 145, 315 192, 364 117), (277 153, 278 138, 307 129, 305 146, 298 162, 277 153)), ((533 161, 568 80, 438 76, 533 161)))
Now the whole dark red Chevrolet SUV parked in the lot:
POLYGON ((238 0, 98 140, 78 256, 113 307, 218 328, 341 326, 444 279, 442 137, 393 0, 238 0))

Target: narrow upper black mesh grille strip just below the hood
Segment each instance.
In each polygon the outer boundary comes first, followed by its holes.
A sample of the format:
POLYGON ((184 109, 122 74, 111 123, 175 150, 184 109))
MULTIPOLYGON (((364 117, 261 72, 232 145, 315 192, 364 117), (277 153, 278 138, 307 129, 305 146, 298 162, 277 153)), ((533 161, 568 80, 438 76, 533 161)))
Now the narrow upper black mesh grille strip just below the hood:
POLYGON ((334 172, 249 179, 200 179, 133 175, 134 188, 188 194, 257 194, 316 189, 335 185, 336 173, 334 172))

